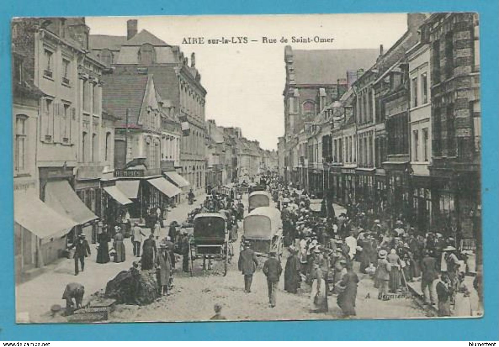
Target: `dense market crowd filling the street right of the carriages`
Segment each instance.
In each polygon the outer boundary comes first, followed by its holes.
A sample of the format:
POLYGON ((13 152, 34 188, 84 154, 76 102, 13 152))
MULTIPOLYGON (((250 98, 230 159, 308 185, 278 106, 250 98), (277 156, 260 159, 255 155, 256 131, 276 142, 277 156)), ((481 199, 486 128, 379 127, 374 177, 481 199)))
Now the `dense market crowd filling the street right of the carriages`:
MULTIPOLYGON (((328 296, 335 295, 343 315, 355 316, 360 277, 372 278, 383 301, 409 295, 408 283, 421 281, 425 305, 437 305, 439 316, 471 315, 464 281, 467 255, 452 236, 417 232, 402 216, 391 226, 390 220, 363 211, 360 203, 337 216, 326 197, 320 209, 313 209, 306 191, 278 178, 269 181, 268 189, 281 210, 290 254, 284 288, 296 293, 306 284, 313 311, 328 311, 328 296)), ((480 282, 474 286, 479 292, 480 282)))

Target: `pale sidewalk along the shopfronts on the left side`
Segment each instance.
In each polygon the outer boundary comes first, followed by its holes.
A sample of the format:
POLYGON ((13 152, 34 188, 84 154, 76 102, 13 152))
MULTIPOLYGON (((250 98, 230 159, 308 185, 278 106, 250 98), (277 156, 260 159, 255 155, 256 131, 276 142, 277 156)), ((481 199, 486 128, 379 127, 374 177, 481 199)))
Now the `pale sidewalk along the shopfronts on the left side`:
MULTIPOLYGON (((198 196, 195 205, 187 202, 178 205, 168 212, 165 228, 160 232, 160 238, 166 236, 171 222, 182 224, 187 218, 187 213, 199 206, 204 201, 204 195, 198 196)), ((91 255, 85 258, 85 271, 74 275, 74 260, 59 259, 47 265, 40 274, 15 287, 16 296, 16 321, 18 323, 46 322, 42 315, 50 311, 52 305, 65 306, 62 293, 68 283, 77 282, 85 286, 85 298, 104 289, 109 280, 118 272, 128 270, 132 262, 139 259, 133 256, 133 247, 130 238, 124 240, 126 260, 122 263, 109 262, 98 264, 96 262, 97 244, 90 244, 91 255)), ((84 299, 85 300, 85 299, 84 299)))

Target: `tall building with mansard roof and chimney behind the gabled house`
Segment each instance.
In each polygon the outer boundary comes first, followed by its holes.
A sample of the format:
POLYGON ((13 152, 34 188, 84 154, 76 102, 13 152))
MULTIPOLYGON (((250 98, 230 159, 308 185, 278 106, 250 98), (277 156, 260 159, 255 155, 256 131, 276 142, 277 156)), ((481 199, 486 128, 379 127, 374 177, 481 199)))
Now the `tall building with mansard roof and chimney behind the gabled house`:
POLYGON ((189 64, 178 46, 169 45, 147 30, 139 32, 135 19, 127 22, 126 36, 91 35, 90 47, 112 67, 113 74, 154 76, 160 99, 169 103, 182 123, 180 161, 175 167, 177 174, 170 175, 176 177, 180 188, 184 188, 183 177, 195 193, 203 192, 206 90, 194 53, 189 64))

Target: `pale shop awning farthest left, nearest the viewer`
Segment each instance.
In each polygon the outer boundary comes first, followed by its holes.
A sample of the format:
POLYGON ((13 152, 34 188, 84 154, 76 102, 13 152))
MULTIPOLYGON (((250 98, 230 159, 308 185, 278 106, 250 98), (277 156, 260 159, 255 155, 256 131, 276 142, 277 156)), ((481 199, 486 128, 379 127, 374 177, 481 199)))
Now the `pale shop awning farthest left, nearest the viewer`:
POLYGON ((38 236, 42 243, 52 237, 67 234, 76 222, 61 216, 38 197, 27 194, 14 194, 14 221, 22 228, 38 236))

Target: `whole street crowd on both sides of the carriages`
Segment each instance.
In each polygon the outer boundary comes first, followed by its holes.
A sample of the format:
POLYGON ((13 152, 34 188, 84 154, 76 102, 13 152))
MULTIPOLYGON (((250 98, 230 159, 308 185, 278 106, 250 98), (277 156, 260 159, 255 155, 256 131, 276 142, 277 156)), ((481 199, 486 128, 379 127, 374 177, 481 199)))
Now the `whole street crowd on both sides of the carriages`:
MULTIPOLYGON (((283 245, 287 249, 284 269, 275 251, 270 252, 263 264, 270 307, 276 306, 277 283, 284 272, 284 290, 291 294, 309 293, 311 312, 328 312, 329 302, 335 298, 344 317, 355 316, 359 280, 372 279, 379 300, 390 301, 408 294, 408 283, 418 280, 425 305, 436 305, 439 316, 471 315, 470 289, 464 282, 466 255, 457 251, 452 236, 417 232, 402 216, 391 225, 390 220, 363 211, 361 204, 349 205, 345 212, 336 215, 327 197, 317 208, 317 199, 276 175, 263 176, 262 182, 280 210, 283 245)), ((191 193, 190 205, 195 201, 191 193)), ((135 266, 156 270, 161 295, 169 295, 173 287, 177 257, 183 258, 182 271, 190 271, 187 229, 192 227, 196 215, 225 214, 231 241, 239 239, 238 222, 243 220, 245 212, 240 191, 226 187, 209 193, 202 204, 188 213, 182 225, 174 221, 166 226, 167 235, 161 240, 158 236, 160 228, 165 227, 165 216, 160 208, 151 209, 145 225, 130 222, 128 233, 133 254, 140 259, 135 266)), ((98 235, 97 262, 125 261, 124 238, 122 227, 115 227, 113 237, 104 228, 98 235)), ((80 237, 75 247, 75 274, 78 274, 84 269, 84 258, 90 255, 90 248, 84 237, 80 237)), ((245 292, 250 293, 258 259, 248 241, 242 244, 238 265, 244 275, 245 292)), ((481 282, 475 281, 474 287, 480 292, 481 282)))

